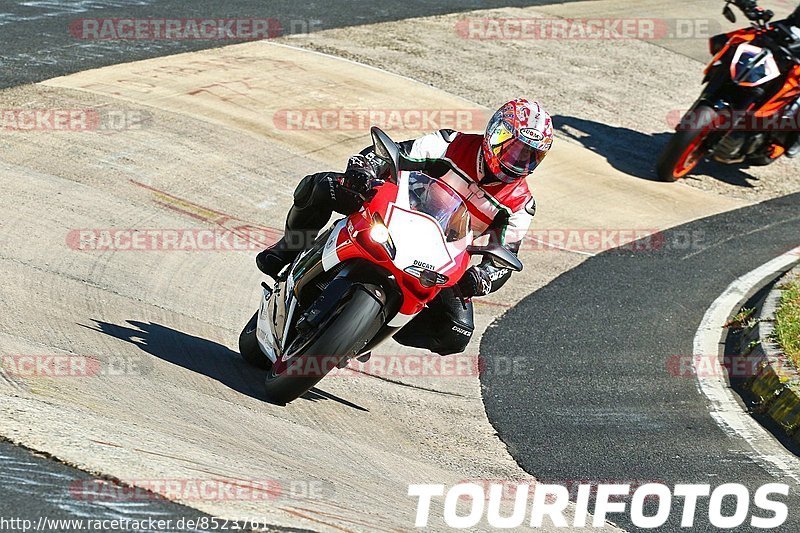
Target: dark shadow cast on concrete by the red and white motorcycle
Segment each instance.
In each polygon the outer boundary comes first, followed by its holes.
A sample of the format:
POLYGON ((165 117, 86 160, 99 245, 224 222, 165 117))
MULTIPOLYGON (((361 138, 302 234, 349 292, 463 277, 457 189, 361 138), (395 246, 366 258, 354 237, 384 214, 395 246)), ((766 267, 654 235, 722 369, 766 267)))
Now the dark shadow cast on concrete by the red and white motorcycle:
MULTIPOLYGON (((127 320, 128 325, 124 326, 96 319, 92 319, 92 322, 94 326, 79 325, 129 342, 150 355, 203 374, 240 394, 266 401, 264 380, 267 373, 245 363, 237 352, 227 346, 153 322, 127 320)), ((368 409, 360 405, 317 388, 311 389, 301 398, 312 402, 333 400, 368 412, 368 409)))

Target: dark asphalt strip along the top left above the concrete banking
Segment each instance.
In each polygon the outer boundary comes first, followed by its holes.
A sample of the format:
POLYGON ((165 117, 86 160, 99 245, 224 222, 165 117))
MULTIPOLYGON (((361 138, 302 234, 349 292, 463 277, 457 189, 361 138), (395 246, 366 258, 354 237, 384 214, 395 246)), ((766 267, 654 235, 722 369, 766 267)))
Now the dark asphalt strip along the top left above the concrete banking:
POLYGON ((55 0, 0 5, 0 88, 33 83, 90 68, 233 44, 234 40, 85 40, 70 24, 85 18, 266 18, 278 21, 275 36, 374 22, 402 20, 545 0, 55 0), (9 5, 13 4, 13 5, 9 5))

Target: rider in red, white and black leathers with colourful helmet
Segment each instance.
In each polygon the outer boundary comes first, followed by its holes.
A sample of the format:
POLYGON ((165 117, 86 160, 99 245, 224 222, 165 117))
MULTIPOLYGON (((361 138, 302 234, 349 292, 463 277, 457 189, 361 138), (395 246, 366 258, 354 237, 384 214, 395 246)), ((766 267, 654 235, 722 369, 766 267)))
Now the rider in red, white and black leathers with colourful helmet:
MULTIPOLYGON (((553 142, 550 115, 538 102, 522 98, 504 104, 486 132, 439 130, 400 144, 426 174, 450 185, 466 202, 472 231, 488 235, 517 253, 536 204, 525 178, 542 162, 553 142)), ((344 173, 306 176, 294 192, 284 238, 256 257, 258 268, 275 278, 309 247, 333 211, 352 214, 380 183, 385 165, 372 147, 350 158, 344 173)), ((502 287, 511 271, 484 259, 470 267, 454 288, 443 289, 394 338, 399 343, 448 355, 463 352, 474 331, 471 299, 502 287)))

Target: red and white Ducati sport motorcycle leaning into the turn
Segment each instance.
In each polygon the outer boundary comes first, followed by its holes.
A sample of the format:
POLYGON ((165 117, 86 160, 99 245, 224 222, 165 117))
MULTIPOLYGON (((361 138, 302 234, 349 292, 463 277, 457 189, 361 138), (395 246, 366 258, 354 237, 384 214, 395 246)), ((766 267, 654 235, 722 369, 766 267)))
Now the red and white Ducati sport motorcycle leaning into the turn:
POLYGON ((286 404, 334 368, 365 355, 455 285, 470 256, 522 270, 498 245, 472 245, 470 215, 443 181, 411 167, 398 145, 372 128, 390 180, 362 209, 334 222, 313 246, 262 283, 261 306, 239 336, 249 363, 268 370, 266 396, 286 404))

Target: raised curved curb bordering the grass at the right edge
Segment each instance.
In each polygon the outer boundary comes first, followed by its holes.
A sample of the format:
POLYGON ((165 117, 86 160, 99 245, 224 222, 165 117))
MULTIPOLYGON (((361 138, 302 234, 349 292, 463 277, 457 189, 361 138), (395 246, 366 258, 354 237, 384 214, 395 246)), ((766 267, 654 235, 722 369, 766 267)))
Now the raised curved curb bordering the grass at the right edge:
POLYGON ((758 345, 752 355, 762 357, 758 373, 747 388, 759 401, 758 409, 774 420, 794 442, 800 444, 800 372, 783 353, 774 338, 775 313, 780 304, 784 280, 800 274, 800 267, 784 274, 770 290, 759 314, 758 345))

